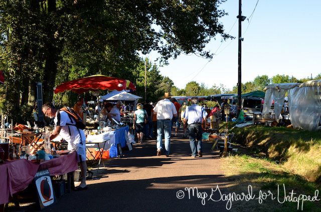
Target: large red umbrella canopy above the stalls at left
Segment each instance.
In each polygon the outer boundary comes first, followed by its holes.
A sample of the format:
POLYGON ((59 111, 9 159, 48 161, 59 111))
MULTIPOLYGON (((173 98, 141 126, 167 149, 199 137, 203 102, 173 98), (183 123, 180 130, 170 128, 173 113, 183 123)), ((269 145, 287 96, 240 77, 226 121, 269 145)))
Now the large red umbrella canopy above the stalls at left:
POLYGON ((125 90, 129 88, 136 90, 135 85, 127 79, 116 78, 105 75, 92 75, 84 78, 64 82, 54 88, 55 93, 71 90, 76 93, 83 93, 89 90, 125 90))

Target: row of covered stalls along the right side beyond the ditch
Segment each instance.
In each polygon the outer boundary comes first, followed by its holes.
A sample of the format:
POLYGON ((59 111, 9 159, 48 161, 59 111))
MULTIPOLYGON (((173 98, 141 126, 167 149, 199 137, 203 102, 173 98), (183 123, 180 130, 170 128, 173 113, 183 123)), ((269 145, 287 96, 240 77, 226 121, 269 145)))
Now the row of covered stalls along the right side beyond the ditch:
MULTIPOLYGON (((262 112, 263 120, 286 120, 293 128, 306 130, 321 129, 321 80, 304 83, 269 84, 264 91, 252 91, 241 95, 241 108, 245 115, 262 112)), ((173 96, 180 103, 192 96, 173 96)), ((213 94, 198 96, 200 100, 219 103, 223 99, 237 101, 237 94, 213 94)))

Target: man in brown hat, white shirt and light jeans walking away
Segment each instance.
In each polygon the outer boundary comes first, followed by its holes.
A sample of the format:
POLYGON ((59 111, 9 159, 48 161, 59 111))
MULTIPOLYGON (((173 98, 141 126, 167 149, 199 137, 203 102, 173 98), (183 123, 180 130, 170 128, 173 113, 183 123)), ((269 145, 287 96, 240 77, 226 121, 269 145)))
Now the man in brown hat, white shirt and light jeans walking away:
POLYGON ((165 135, 165 149, 166 156, 170 154, 171 147, 171 130, 172 130, 172 118, 177 117, 176 107, 173 102, 170 101, 171 94, 166 92, 163 99, 159 100, 153 108, 153 113, 157 118, 157 155, 162 154, 162 136, 165 135))

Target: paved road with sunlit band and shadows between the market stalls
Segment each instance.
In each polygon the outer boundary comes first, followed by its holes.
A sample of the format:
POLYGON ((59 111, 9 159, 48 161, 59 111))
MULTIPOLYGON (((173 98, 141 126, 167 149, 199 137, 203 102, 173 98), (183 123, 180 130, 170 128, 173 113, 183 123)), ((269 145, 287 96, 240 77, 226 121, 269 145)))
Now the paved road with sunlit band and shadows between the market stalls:
MULTIPOLYGON (((135 144, 124 157, 110 160, 106 169, 95 172, 99 179, 88 180, 88 190, 73 191, 46 211, 226 211, 226 202, 214 202, 191 195, 185 187, 206 192, 229 185, 217 153, 204 142, 203 157, 192 158, 188 139, 172 139, 170 157, 156 156, 155 140, 135 144), (177 197, 178 191, 184 198, 177 197), (182 195, 182 192, 180 193, 182 195)), ((192 192, 191 192, 192 194, 192 192)), ((219 199, 214 192, 213 199, 219 199)))

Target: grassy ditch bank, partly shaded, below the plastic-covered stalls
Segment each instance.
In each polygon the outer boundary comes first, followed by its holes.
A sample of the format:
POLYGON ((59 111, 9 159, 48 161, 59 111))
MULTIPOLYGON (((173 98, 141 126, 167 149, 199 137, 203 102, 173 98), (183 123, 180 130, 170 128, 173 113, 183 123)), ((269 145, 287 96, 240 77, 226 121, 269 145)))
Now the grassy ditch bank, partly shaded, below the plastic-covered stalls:
POLYGON ((293 174, 321 183, 321 133, 255 125, 234 128, 234 142, 270 158, 293 174))

